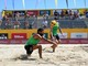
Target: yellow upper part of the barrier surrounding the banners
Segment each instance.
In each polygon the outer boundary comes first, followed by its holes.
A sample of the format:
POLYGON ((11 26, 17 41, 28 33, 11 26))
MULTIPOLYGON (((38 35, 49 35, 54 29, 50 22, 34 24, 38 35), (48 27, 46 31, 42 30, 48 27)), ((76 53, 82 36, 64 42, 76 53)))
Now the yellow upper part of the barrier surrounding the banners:
MULTIPOLYGON (((12 33, 26 33, 26 38, 29 38, 33 33, 36 33, 36 29, 32 29, 32 30, 0 30, 0 33, 7 33, 8 34, 8 38, 12 38, 12 33)), ((70 34, 72 33, 87 33, 88 34, 88 29, 62 29, 63 33, 67 34, 66 37, 70 38, 70 34)), ((50 38, 50 29, 45 29, 44 31, 45 33, 47 33, 48 35, 46 35, 47 38, 50 38)), ((58 32, 59 33, 59 32, 58 32)), ((76 36, 81 36, 84 37, 84 35, 77 35, 76 36)), ((87 37, 88 38, 88 35, 87 37)))

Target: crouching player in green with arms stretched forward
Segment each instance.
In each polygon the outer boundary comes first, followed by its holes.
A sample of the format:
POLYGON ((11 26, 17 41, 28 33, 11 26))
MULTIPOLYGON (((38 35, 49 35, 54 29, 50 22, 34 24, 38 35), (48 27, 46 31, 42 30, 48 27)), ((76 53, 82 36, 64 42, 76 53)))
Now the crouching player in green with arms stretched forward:
POLYGON ((28 56, 30 56, 32 54, 32 52, 34 50, 38 50, 38 55, 40 55, 40 58, 42 58, 42 45, 38 45, 38 42, 41 40, 44 40, 46 42, 50 42, 52 44, 56 44, 50 40, 46 40, 43 37, 43 34, 44 34, 44 30, 43 29, 38 29, 37 30, 37 33, 36 34, 33 34, 26 42, 24 48, 26 51, 26 54, 28 56))

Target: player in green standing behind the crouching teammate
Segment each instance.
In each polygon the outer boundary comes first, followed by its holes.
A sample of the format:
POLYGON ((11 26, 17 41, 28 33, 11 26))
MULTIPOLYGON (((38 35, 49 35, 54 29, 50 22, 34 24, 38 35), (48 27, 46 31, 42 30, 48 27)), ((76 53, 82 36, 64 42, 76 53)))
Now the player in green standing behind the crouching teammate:
MULTIPOLYGON (((61 43, 61 40, 59 40, 59 36, 58 36, 58 29, 59 29, 61 34, 63 35, 58 22, 56 22, 55 20, 53 20, 51 22, 51 38, 53 41, 55 41, 57 44, 61 43)), ((51 47, 53 47, 53 52, 55 52, 55 48, 57 47, 57 45, 53 44, 51 47)))

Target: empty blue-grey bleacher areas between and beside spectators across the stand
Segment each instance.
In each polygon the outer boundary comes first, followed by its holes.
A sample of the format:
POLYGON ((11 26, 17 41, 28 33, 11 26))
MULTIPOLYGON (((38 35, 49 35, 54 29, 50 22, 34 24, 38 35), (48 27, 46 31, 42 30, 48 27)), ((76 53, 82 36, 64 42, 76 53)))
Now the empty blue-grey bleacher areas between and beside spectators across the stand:
MULTIPOLYGON (((13 29, 14 20, 13 19, 10 19, 10 20, 12 22, 11 28, 13 29)), ((47 20, 48 22, 47 29, 50 28, 50 23, 52 20, 53 18, 50 18, 47 20)), ((21 23, 20 29, 24 29, 24 19, 19 19, 18 21, 21 23)), ((28 21, 32 25, 33 29, 37 29, 42 26, 43 19, 42 18, 37 18, 37 19, 30 18, 28 19, 28 21)), ((86 23, 87 21, 85 20, 58 20, 58 22, 62 29, 87 29, 88 28, 87 26, 88 24, 86 23)), ((6 25, 6 21, 2 21, 1 29, 6 29, 4 25, 6 25)))

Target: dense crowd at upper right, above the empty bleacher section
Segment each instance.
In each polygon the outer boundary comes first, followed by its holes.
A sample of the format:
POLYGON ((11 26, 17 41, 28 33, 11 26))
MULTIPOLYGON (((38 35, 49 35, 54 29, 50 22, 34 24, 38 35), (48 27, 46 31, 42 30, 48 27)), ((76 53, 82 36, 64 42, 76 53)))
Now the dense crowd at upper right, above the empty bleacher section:
POLYGON ((73 10, 66 10, 64 12, 64 10, 62 11, 56 11, 54 12, 54 16, 57 18, 58 20, 59 19, 68 19, 68 20, 76 20, 76 19, 85 19, 85 18, 88 18, 88 11, 86 10, 84 12, 84 14, 79 13, 79 11, 73 11, 73 10))

